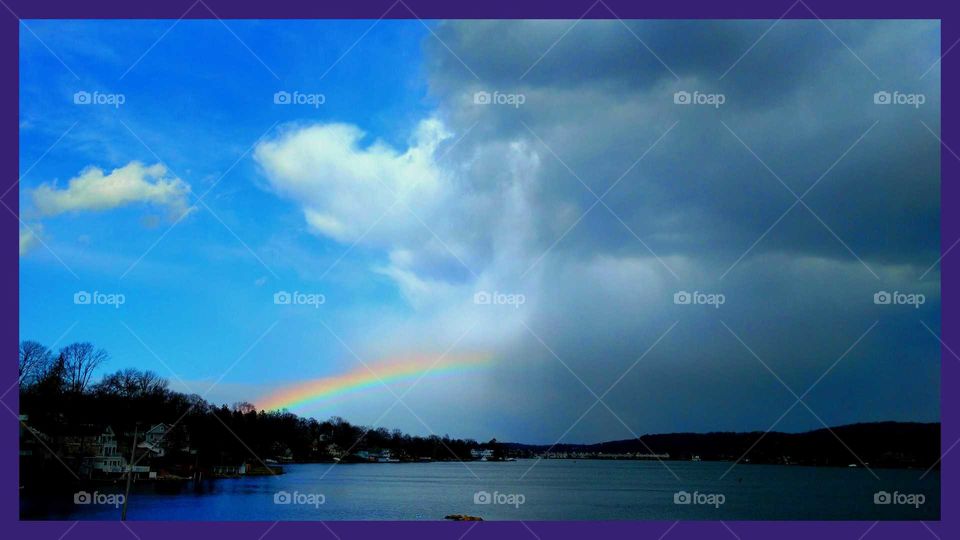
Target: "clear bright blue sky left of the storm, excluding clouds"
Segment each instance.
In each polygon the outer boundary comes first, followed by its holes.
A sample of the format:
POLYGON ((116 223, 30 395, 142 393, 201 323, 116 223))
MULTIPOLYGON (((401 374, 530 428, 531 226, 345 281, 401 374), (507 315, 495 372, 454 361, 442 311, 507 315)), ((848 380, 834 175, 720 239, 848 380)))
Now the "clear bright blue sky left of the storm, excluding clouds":
MULTIPOLYGON (((170 22, 31 23, 69 68, 22 32, 21 171, 36 165, 21 180, 21 194, 51 180, 66 182, 88 166, 110 170, 130 161, 162 161, 191 185, 194 196, 212 186, 204 202, 225 224, 204 210, 171 228, 162 210, 143 205, 43 220, 44 241, 69 270, 42 247, 22 259, 22 334, 53 343, 77 322, 64 340, 88 339, 109 350, 114 360, 106 369, 136 364, 169 376, 118 328, 123 321, 185 380, 213 380, 225 360, 240 356, 277 320, 276 311, 264 309, 276 290, 323 290, 329 297, 324 316, 331 321, 340 318, 335 306, 344 305, 344 297, 349 309, 375 303, 402 312, 404 303, 385 279, 338 279, 375 253, 357 249, 342 261, 330 276, 336 289, 316 279, 316 269, 332 265, 344 246, 306 233, 295 208, 265 197, 250 159, 254 143, 277 123, 350 122, 365 126, 371 140, 404 144, 404 133, 430 108, 418 52, 427 30, 383 21, 350 51, 351 61, 334 65, 370 24, 288 22, 281 28, 231 22, 237 39, 216 22, 181 21, 157 42, 170 22), (326 102, 320 108, 278 107, 273 94, 285 89, 323 93, 326 102), (126 102, 119 108, 80 107, 73 103, 78 90, 122 93, 126 102), (147 217, 160 219, 145 226, 147 217), (268 246, 257 255, 262 264, 244 244, 268 246), (91 317, 85 306, 72 305, 76 290, 120 292, 128 302, 122 310, 91 317), (36 298, 46 301, 31 301, 36 298), (228 334, 238 339, 213 339, 228 334), (217 360, 207 366, 204 358, 217 360)), ((307 321, 311 315, 305 314, 307 321)), ((298 367, 342 356, 329 339, 304 339, 309 323, 291 319, 262 343, 273 352, 261 358, 287 359, 270 378, 294 379, 301 376, 294 372, 298 367)), ((236 380, 260 381, 263 369, 262 360, 242 362, 232 373, 236 380)), ((316 371, 311 366, 307 373, 316 371)))

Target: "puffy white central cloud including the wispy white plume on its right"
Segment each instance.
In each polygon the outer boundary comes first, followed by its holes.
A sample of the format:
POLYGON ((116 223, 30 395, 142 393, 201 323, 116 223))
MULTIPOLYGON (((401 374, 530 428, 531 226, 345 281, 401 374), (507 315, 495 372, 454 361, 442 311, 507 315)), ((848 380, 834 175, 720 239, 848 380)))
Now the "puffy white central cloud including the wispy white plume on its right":
POLYGON ((364 147, 364 137, 346 124, 293 126, 254 156, 269 186, 300 207, 315 234, 383 250, 386 264, 372 270, 416 304, 527 256, 529 172, 539 158, 526 144, 497 148, 504 169, 490 185, 471 186, 439 163, 453 141, 437 119, 421 121, 403 151, 382 141, 364 147))

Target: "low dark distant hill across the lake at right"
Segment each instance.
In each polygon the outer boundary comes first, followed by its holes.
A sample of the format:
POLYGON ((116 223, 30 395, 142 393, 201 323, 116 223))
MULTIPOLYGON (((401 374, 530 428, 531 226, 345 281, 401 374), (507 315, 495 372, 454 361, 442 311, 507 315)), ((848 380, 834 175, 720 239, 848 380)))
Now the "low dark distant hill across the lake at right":
POLYGON ((513 454, 528 456, 547 451, 606 454, 608 457, 652 452, 670 454, 670 459, 699 456, 704 461, 736 460, 749 449, 744 462, 860 466, 859 457, 870 467, 928 468, 940 459, 940 424, 875 422, 804 433, 668 433, 595 444, 557 444, 550 447, 504 443, 503 446, 513 454))

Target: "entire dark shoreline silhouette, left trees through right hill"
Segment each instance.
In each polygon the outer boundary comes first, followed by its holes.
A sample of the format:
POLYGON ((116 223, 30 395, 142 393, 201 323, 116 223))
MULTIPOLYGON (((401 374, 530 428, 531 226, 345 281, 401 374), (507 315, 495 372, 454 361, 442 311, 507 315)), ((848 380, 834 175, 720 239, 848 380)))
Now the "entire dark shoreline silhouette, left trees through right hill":
POLYGON ((89 343, 74 343, 57 352, 33 341, 21 343, 21 420, 33 435, 21 431, 24 487, 41 476, 62 479, 67 474, 62 465, 82 471, 84 460, 108 459, 102 455, 107 445, 102 437, 98 439, 106 427, 115 434, 116 452, 126 458, 134 433, 143 434, 158 424, 164 426, 162 437, 138 454, 134 464, 149 458, 150 472, 171 477, 189 477, 197 471, 208 474, 241 464, 262 466, 269 473, 267 462, 274 461, 498 461, 541 456, 651 459, 668 455, 665 459, 919 468, 939 463, 938 423, 879 422, 806 433, 675 433, 553 446, 496 439, 479 443, 370 429, 339 417, 319 421, 287 411, 258 411, 247 402, 215 405, 199 395, 170 390, 162 377, 138 369, 121 369, 94 382, 93 373, 107 360, 105 351, 89 343), (90 451, 96 445, 99 456, 90 451), (160 447, 162 453, 156 451, 160 447), (43 459, 23 457, 38 454, 43 459))

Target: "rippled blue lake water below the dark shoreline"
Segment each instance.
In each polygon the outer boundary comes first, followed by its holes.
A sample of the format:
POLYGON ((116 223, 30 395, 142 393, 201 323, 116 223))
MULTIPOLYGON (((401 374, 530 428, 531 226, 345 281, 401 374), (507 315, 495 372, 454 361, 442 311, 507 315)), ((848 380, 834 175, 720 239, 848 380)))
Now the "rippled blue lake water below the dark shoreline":
MULTIPOLYGON (((939 472, 667 461, 519 460, 506 463, 286 465, 286 474, 135 485, 132 520, 937 520, 939 472), (666 465, 666 466, 664 466, 666 465), (669 467, 669 470, 668 468, 669 467), (672 471, 672 472, 671 472, 672 471), (676 474, 680 480, 674 477, 676 474), (199 489, 195 489, 199 487, 199 489), (676 504, 696 492, 700 502, 676 504), (875 504, 875 493, 925 499, 919 507, 875 504), (283 493, 290 494, 285 497, 283 493), (483 494, 489 504, 478 504, 483 494), (278 495, 278 493, 280 493, 278 495), (281 504, 275 502, 279 498, 281 504), (295 500, 294 500, 295 499, 295 500), (284 500, 290 501, 282 504, 284 500)), ((94 488, 87 488, 92 491, 94 488)), ((99 493, 118 486, 96 487, 99 493)), ((914 500, 916 502, 916 499, 914 500)), ((119 519, 72 494, 21 500, 24 519, 119 519)))

